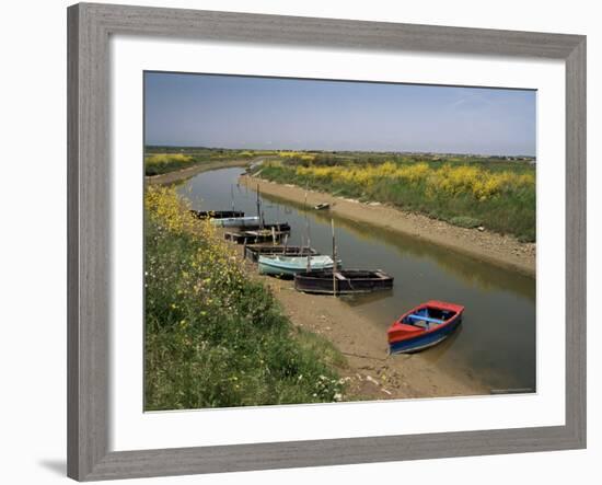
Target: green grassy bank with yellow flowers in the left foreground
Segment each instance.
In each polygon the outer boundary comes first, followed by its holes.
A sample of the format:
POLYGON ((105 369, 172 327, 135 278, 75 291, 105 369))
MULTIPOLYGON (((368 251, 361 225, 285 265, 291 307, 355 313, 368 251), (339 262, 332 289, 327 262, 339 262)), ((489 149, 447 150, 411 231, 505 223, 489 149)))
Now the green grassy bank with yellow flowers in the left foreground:
POLYGON ((334 402, 345 358, 274 296, 173 188, 144 197, 147 411, 334 402))

